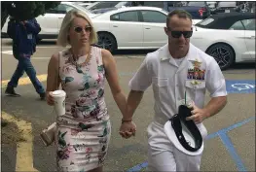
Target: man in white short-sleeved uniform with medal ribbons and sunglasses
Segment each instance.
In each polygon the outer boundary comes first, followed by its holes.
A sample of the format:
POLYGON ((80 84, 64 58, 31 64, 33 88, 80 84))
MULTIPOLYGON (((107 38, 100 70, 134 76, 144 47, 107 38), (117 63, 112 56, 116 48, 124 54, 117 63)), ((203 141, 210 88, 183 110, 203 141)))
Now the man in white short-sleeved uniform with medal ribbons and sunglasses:
MULTIPOLYGON (((201 155, 185 155, 168 140, 164 125, 178 113, 179 101, 185 91, 195 105, 192 116, 201 131, 207 135, 202 120, 220 112, 227 103, 224 76, 212 56, 201 52, 190 43, 192 18, 186 11, 172 11, 166 18, 165 33, 168 44, 156 52, 148 53, 129 82, 127 114, 123 120, 132 120, 143 92, 152 85, 155 98, 155 118, 147 128, 148 162, 151 171, 200 171, 201 155), (204 106, 206 89, 210 101, 204 106)), ((131 127, 131 126, 130 126, 131 127)), ((130 132, 123 127, 123 137, 130 132)), ((129 135, 128 135, 129 133, 129 135)), ((173 135, 173 137, 176 137, 173 135)))

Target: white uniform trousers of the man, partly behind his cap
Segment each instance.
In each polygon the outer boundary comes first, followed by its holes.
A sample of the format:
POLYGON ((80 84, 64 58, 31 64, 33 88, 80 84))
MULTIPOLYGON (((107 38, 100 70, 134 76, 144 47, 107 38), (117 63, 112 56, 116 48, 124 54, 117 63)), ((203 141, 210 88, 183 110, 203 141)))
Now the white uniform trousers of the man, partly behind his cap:
MULTIPOLYGON (((205 138, 205 127, 200 127, 200 130, 205 138)), ((152 122, 148 126, 148 139, 147 171, 200 171, 201 155, 186 155, 177 150, 165 135, 163 125, 152 122)))

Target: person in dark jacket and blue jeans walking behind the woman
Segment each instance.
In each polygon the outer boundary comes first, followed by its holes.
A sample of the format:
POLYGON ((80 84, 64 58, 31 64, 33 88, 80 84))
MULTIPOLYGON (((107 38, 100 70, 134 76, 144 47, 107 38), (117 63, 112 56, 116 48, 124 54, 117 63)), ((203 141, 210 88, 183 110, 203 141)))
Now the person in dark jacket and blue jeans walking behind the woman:
POLYGON ((31 55, 36 52, 36 37, 41 31, 40 25, 35 18, 17 21, 11 17, 8 22, 7 34, 13 39, 13 54, 18 60, 16 71, 8 83, 5 93, 10 96, 20 96, 15 87, 18 86, 18 80, 26 72, 31 83, 42 100, 45 99, 45 89, 36 77, 36 70, 31 63, 31 55))

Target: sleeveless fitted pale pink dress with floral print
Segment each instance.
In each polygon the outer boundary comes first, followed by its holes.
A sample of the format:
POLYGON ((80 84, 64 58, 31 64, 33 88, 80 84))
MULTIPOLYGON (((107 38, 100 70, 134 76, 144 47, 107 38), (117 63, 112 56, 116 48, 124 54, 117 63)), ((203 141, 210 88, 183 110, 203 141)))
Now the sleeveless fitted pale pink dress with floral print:
POLYGON ((89 171, 104 162, 111 135, 104 101, 105 71, 101 49, 91 47, 88 62, 85 56, 74 62, 68 50, 59 55, 66 113, 56 118, 57 171, 89 171))

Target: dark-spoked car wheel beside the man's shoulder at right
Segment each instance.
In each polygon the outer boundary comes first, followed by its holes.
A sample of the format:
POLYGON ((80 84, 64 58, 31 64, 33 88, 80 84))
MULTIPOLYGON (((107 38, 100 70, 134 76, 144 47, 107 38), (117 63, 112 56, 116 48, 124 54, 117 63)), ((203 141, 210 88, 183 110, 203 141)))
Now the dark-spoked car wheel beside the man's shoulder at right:
POLYGON ((215 58, 221 70, 228 69, 235 62, 235 52, 225 44, 213 45, 206 53, 215 58))

